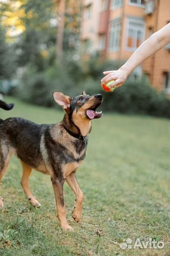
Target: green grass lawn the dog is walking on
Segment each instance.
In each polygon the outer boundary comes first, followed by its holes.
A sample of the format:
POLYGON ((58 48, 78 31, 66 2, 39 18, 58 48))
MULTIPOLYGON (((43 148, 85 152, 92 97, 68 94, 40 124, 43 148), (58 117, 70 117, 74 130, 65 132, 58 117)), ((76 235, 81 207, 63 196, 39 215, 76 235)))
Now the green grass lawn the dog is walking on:
MULTIPOLYGON (((63 112, 16 99, 0 118, 20 116, 54 123, 63 112)), ((64 187, 68 223, 63 233, 56 218, 50 177, 33 171, 30 186, 42 203, 29 205, 21 188, 22 169, 12 157, 2 179, 5 208, 0 212, 3 256, 169 256, 170 255, 170 121, 145 116, 105 114, 93 120, 85 161, 77 179, 85 195, 83 219, 71 217, 75 196, 64 187), (123 239, 162 240, 163 249, 126 249, 123 239)))

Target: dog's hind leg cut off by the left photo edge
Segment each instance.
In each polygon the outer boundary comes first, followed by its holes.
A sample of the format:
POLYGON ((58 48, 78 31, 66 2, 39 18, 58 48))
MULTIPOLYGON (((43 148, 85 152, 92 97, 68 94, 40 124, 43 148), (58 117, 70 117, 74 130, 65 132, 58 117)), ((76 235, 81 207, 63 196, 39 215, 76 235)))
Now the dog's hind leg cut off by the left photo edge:
MULTIPOLYGON (((9 159, 10 159, 10 155, 9 154, 5 154, 7 155, 7 157, 5 157, 5 155, 2 154, 2 152, 0 152, 0 182, 1 179, 3 177, 3 175, 5 174, 5 171, 7 170, 8 164, 9 164, 9 159)), ((0 188, 0 192, 1 192, 1 188, 0 188)), ((4 207, 4 199, 2 197, 0 197, 0 208, 4 207)))

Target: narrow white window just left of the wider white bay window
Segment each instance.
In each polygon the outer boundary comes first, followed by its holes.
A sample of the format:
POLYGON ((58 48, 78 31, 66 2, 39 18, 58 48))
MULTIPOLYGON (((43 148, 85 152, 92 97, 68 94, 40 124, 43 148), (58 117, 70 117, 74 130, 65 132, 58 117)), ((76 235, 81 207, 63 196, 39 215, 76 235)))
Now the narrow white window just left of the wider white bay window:
POLYGON ((118 51, 119 50, 119 41, 120 41, 120 21, 113 21, 110 25, 110 50, 118 51))

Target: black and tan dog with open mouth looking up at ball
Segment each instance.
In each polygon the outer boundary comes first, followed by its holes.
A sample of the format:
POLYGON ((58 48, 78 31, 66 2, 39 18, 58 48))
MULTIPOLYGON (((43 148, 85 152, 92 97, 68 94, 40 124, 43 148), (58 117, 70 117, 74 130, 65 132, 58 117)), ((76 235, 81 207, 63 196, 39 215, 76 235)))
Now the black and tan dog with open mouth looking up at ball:
MULTIPOLYGON (((76 180, 76 169, 85 158, 87 135, 91 131, 91 120, 102 117, 96 109, 102 104, 102 94, 69 97, 59 91, 53 92, 53 99, 65 111, 64 118, 57 124, 38 125, 22 118, 0 119, 0 181, 5 173, 10 156, 20 159, 23 174, 21 185, 29 202, 36 207, 41 204, 29 188, 32 169, 51 176, 55 194, 57 217, 63 231, 73 230, 68 225, 63 199, 63 184, 66 181, 76 194, 72 217, 79 222, 82 214, 83 192, 76 180)), ((0 102, 5 110, 13 104, 0 102)), ((0 198, 0 207, 4 206, 0 198)))

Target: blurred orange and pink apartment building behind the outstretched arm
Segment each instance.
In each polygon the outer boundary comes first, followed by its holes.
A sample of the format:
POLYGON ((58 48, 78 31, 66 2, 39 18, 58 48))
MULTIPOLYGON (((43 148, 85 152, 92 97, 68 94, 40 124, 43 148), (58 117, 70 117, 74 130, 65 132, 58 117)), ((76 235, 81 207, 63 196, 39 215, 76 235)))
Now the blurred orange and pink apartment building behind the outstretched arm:
MULTIPOLYGON (((170 22, 170 0, 83 0, 82 54, 96 51, 103 60, 125 62, 141 43, 170 22)), ((111 69, 111 67, 110 67, 111 69)), ((133 72, 147 74, 159 91, 170 95, 170 44, 133 72)))

